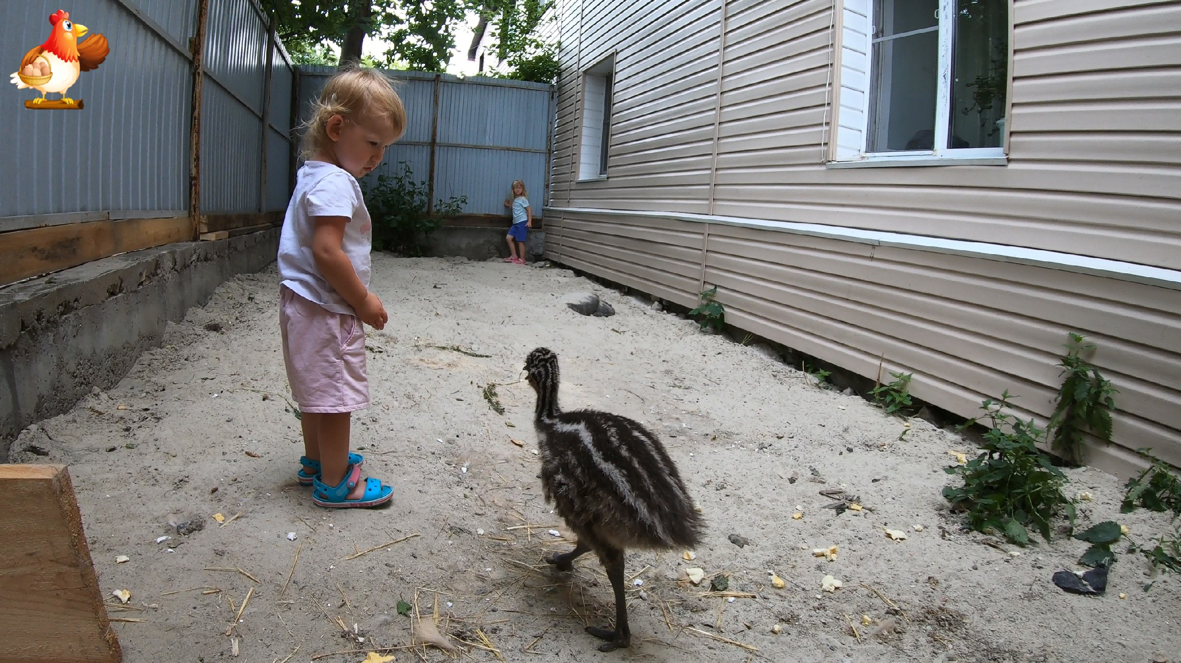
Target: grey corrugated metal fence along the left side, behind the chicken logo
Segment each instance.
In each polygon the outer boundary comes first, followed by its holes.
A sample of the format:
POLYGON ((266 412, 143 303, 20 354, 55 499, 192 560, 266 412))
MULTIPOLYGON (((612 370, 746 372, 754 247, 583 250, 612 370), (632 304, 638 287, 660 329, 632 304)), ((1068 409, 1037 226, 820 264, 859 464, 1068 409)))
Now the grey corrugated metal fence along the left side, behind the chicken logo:
MULTIPOLYGON (((0 81, 0 232, 189 215, 191 39, 202 0, 76 0, 71 20, 111 52, 70 96, 81 111, 32 111, 0 81)), ((292 149, 291 59, 256 0, 205 0, 201 214, 281 210, 292 149)), ((0 65, 45 41, 57 0, 0 0, 0 65)), ((56 98, 56 96, 53 96, 56 98)))

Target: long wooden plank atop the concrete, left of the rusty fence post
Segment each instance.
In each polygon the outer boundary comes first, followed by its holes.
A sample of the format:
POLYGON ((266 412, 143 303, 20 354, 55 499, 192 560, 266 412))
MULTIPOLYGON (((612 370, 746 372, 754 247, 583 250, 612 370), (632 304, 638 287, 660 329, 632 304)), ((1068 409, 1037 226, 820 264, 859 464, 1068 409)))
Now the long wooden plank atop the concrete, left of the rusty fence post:
POLYGON ((0 234, 0 284, 190 237, 188 217, 129 218, 0 234))

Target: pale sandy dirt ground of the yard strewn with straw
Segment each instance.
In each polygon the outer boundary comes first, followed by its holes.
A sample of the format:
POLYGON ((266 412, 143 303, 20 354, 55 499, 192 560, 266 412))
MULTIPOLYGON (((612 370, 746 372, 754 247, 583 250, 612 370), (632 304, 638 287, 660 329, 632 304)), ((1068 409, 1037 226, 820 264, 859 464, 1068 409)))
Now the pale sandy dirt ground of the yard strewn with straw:
MULTIPOLYGON (((565 269, 374 255, 373 274, 390 324, 368 330, 373 403, 353 420, 353 445, 394 487, 389 508, 328 512, 295 483, 302 446, 285 400, 274 269, 223 284, 117 388, 13 445, 15 462, 70 465, 102 590, 131 592, 109 613, 142 619, 115 623, 125 661, 228 659, 236 638, 241 661, 360 662, 372 646, 410 643, 399 600, 428 621, 437 605, 463 648, 450 657, 476 661, 497 658, 488 648, 509 662, 1181 661, 1176 576, 1148 577, 1121 554, 1105 596, 1066 595, 1050 576, 1079 569, 1087 544, 1056 536, 1017 551, 961 529, 940 497, 948 451, 972 451, 957 434, 914 419, 899 440, 903 421, 864 400, 565 269), (560 303, 578 290, 618 315, 560 303), (693 562, 680 550, 628 554, 628 578, 642 582, 628 592, 629 651, 600 654, 582 630, 613 615, 598 562, 583 557, 569 577, 541 562, 570 543, 549 533, 565 530, 536 479, 534 395, 516 382, 537 346, 560 356, 563 407, 609 409, 660 434, 707 520, 693 562), (503 415, 482 398, 489 382, 508 383, 503 415), (823 508, 833 499, 818 491, 833 488, 867 508, 823 508), (182 536, 185 520, 203 529, 182 536), (835 560, 813 556, 829 545, 835 560), (685 567, 706 579, 678 583, 685 567), (717 573, 730 576, 732 602, 707 595, 717 573), (826 575, 843 586, 821 591, 826 575), (227 636, 231 605, 252 591, 227 636), (364 642, 344 634, 354 624, 364 642), (353 651, 325 656, 342 650, 353 651)), ((1111 475, 1070 477, 1071 494, 1095 498, 1081 505, 1083 526, 1115 518, 1143 540, 1167 523, 1121 516, 1111 475)))

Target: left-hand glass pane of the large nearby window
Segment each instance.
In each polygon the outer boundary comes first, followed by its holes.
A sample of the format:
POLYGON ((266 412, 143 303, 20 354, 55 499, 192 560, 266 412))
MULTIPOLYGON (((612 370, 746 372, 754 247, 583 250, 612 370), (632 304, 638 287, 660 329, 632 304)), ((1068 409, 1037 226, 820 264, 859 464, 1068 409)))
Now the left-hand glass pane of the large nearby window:
POLYGON ((938 94, 939 0, 874 0, 873 15, 868 151, 931 150, 938 94))

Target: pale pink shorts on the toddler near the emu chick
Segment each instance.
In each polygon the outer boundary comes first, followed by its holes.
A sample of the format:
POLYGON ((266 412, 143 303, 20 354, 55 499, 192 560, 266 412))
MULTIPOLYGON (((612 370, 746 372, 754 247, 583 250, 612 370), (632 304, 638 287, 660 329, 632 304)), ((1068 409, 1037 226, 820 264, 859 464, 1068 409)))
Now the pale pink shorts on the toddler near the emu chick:
POLYGON ((332 313, 280 285, 279 327, 292 396, 304 412, 368 407, 365 328, 355 315, 332 313))

